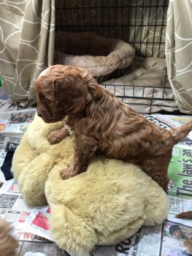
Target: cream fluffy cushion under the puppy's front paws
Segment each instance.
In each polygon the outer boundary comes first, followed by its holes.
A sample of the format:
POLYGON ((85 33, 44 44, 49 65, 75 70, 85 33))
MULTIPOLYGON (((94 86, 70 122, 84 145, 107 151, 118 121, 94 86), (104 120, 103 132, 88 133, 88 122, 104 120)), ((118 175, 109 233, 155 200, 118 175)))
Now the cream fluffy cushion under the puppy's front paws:
POLYGON ((26 204, 50 204, 50 231, 58 246, 82 255, 164 221, 166 193, 135 165, 98 157, 87 172, 62 180, 59 171, 72 161, 73 138, 53 146, 47 141, 48 133, 62 126, 36 116, 12 161, 26 204))

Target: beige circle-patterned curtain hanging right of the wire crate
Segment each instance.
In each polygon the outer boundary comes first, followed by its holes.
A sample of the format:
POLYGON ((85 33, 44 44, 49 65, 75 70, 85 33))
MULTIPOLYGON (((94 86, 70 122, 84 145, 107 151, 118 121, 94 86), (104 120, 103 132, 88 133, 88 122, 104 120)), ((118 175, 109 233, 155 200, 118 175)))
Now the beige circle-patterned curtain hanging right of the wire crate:
POLYGON ((192 0, 169 1, 166 64, 180 111, 192 114, 192 0))

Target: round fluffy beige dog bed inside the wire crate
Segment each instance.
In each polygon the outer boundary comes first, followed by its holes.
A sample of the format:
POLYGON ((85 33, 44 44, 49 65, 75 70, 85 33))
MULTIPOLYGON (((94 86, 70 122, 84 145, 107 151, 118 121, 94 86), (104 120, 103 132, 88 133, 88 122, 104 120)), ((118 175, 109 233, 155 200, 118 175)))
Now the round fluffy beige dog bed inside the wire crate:
POLYGON ((88 69, 98 83, 119 78, 134 60, 135 51, 123 40, 93 32, 55 33, 55 64, 88 69))

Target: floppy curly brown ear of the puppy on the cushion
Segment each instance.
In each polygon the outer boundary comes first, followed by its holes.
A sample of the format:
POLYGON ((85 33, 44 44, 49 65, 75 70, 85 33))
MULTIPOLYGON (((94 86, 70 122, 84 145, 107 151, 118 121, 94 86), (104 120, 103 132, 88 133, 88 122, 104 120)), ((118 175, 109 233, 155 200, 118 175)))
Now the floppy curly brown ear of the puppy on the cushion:
POLYGON ((67 116, 80 114, 85 108, 88 88, 85 80, 75 69, 64 71, 64 75, 54 82, 58 105, 67 116))

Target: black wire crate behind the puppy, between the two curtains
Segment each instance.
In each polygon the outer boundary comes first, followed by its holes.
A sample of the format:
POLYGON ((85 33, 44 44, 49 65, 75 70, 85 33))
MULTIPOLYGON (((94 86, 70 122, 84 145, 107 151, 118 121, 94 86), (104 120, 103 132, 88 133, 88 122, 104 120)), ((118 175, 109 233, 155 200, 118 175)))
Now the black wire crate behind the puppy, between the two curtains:
MULTIPOLYGON (((136 56, 164 59, 168 5, 169 0, 58 0, 56 31, 93 31, 104 37, 123 39, 133 46, 136 56)), ((178 110, 166 70, 163 80, 161 86, 105 82, 101 86, 110 89, 122 102, 133 105, 140 113, 178 110), (146 96, 147 90, 150 94, 146 96), (156 94, 159 90, 161 93, 156 94)))

